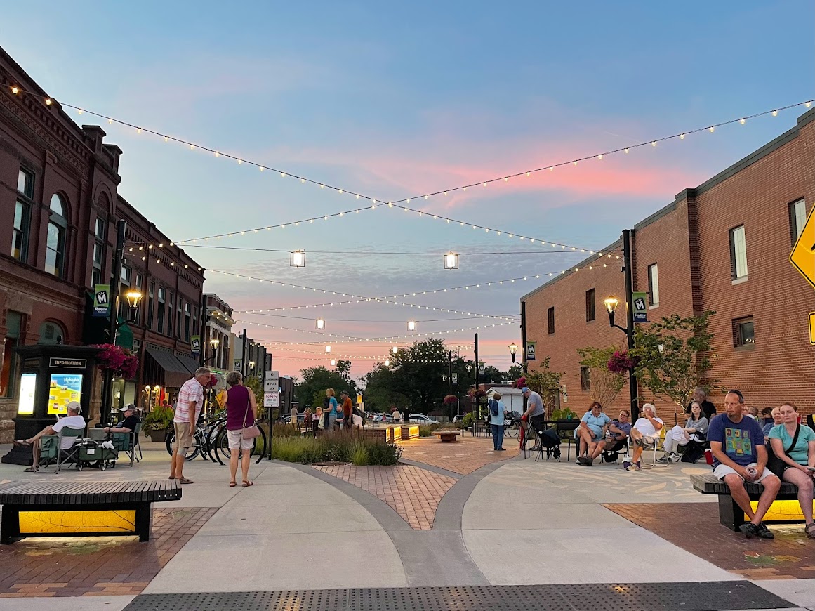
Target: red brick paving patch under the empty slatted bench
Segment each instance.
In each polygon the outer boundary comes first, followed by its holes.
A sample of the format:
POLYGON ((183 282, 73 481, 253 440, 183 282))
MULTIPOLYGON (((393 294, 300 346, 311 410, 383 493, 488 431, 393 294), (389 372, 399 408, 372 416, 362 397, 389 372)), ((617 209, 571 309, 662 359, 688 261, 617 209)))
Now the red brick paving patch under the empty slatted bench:
POLYGON ((136 537, 37 537, 0 546, 0 598, 139 594, 215 511, 153 509, 146 543, 136 537))

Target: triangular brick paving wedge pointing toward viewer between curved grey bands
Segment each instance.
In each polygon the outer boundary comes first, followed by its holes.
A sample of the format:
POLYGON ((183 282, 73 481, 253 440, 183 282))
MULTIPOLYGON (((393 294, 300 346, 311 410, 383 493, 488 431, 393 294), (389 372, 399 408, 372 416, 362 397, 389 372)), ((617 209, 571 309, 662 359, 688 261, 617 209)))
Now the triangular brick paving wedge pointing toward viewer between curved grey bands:
POLYGON ((315 469, 338 477, 384 501, 414 530, 430 530, 438 502, 456 480, 420 467, 355 467, 315 465, 315 469))

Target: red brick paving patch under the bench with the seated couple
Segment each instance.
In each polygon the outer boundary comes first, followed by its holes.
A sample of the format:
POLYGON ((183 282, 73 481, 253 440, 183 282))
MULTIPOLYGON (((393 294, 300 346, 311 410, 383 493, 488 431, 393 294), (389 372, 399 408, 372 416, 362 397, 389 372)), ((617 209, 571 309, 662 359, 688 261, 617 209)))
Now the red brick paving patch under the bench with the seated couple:
MULTIPOLYGON (((623 516, 711 564, 749 579, 815 578, 815 541, 804 525, 769 525, 772 540, 747 539, 719 523, 717 503, 608 504, 623 516)), ((677 578, 681 567, 676 568, 677 578)))

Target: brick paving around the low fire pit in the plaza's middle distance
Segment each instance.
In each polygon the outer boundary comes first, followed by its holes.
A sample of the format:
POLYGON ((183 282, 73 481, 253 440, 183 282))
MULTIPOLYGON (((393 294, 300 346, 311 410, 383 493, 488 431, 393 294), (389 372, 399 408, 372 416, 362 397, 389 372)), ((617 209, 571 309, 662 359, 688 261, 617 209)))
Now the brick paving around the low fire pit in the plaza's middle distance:
POLYGON ((517 437, 504 437, 505 452, 492 450, 491 437, 471 437, 467 433, 458 436, 458 441, 443 444, 438 437, 420 437, 410 441, 399 441, 402 457, 442 467, 447 471, 467 475, 488 463, 497 463, 518 456, 517 437))

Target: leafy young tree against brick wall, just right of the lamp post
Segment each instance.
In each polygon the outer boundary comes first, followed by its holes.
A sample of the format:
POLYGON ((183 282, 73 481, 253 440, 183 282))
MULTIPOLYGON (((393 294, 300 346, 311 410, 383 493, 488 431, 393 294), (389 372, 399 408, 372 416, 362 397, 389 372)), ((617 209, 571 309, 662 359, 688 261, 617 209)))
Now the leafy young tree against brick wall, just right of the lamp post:
POLYGON ((685 410, 694 388, 710 391, 718 380, 708 380, 713 334, 707 330, 707 311, 700 317, 663 317, 647 329, 637 327, 632 356, 639 379, 654 396, 665 397, 685 410))

